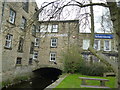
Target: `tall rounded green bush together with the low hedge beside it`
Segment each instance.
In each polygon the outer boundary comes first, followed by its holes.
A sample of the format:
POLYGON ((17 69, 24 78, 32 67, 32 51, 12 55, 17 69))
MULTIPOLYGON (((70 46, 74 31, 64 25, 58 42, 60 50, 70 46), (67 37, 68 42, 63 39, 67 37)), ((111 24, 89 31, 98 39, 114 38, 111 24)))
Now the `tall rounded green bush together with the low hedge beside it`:
POLYGON ((102 76, 103 73, 110 71, 109 67, 100 62, 91 63, 83 60, 82 55, 80 54, 81 52, 79 47, 73 45, 63 53, 62 61, 64 64, 64 72, 102 76))

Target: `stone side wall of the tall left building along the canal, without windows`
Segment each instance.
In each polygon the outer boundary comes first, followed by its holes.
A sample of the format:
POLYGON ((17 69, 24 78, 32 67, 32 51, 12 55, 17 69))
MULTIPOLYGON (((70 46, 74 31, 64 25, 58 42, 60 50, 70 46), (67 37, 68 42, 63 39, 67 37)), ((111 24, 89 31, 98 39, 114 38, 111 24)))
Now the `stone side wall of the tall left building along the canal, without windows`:
MULTIPOLYGON (((1 2, 0 2, 1 7, 1 2)), ((3 8, 0 8, 0 11, 3 8)), ((14 82, 15 78, 22 78, 22 77, 29 77, 32 74, 32 70, 35 67, 29 66, 29 49, 30 49, 30 43, 31 39, 34 40, 35 37, 33 37, 31 33, 31 26, 24 31, 20 28, 21 25, 21 19, 24 16, 27 20, 27 25, 29 25, 31 18, 33 17, 33 14, 36 12, 37 5, 35 2, 29 3, 29 11, 26 12, 22 8, 22 2, 5 2, 4 4, 4 14, 2 16, 2 33, 0 33, 0 58, 2 57, 2 81, 3 82, 14 82), (11 24, 9 22, 9 15, 10 15, 10 8, 12 8, 16 12, 16 18, 15 23, 11 24), (6 35, 12 34, 12 48, 5 48, 6 43, 6 35), (24 46, 23 46, 23 52, 18 52, 18 44, 19 44, 19 38, 24 38, 24 46), (26 38, 27 37, 27 38, 26 38), (29 38, 31 37, 31 38, 29 38), (2 50, 1 50, 2 48, 2 50), (17 57, 22 58, 22 64, 16 65, 16 59, 17 57)), ((1 12, 0 12, 1 15, 1 12)), ((1 75, 1 74, 0 74, 1 75)))

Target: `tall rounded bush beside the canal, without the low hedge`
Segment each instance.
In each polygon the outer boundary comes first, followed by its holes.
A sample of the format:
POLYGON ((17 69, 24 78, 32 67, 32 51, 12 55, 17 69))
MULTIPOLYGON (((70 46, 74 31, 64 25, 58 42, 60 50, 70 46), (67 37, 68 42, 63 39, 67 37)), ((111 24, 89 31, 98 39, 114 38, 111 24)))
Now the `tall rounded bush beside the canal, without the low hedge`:
POLYGON ((75 73, 83 64, 83 59, 80 54, 81 50, 77 45, 72 45, 62 55, 62 61, 64 63, 64 71, 67 73, 75 73))

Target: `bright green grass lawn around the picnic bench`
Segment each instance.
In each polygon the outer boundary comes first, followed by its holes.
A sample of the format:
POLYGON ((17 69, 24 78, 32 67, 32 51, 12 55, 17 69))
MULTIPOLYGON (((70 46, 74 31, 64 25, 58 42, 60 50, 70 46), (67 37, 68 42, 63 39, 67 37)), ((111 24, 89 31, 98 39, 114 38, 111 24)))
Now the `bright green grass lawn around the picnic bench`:
MULTIPOLYGON (((89 77, 89 78, 102 78, 108 79, 106 82, 106 86, 110 88, 115 88, 116 86, 116 78, 115 77, 95 77, 95 76, 85 76, 80 74, 69 74, 56 88, 81 88, 81 80, 78 77, 89 77)), ((100 85, 99 81, 87 80, 89 85, 100 85)), ((102 89, 104 90, 104 89, 102 89)))

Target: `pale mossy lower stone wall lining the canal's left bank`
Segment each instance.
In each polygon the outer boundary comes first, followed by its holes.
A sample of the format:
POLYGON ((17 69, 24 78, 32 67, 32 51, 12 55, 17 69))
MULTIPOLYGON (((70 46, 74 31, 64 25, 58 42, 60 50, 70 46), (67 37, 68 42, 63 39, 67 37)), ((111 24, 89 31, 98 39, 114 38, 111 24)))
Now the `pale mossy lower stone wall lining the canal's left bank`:
POLYGON ((16 67, 7 72, 2 72, 2 87, 17 84, 18 82, 29 80, 33 76, 31 67, 16 67))

